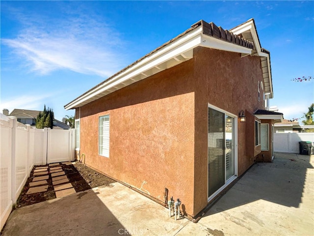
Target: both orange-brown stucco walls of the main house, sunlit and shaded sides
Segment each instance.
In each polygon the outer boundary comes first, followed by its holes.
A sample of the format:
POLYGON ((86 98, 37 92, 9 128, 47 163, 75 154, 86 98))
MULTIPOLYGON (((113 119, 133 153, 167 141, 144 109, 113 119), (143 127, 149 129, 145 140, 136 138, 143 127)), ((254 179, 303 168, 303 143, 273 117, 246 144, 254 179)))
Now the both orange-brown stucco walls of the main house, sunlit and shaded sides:
POLYGON ((208 104, 238 116, 237 174, 255 147, 254 112, 264 109, 259 57, 198 47, 194 57, 76 109, 85 164, 163 202, 180 198, 195 216, 208 204, 208 104), (80 110, 79 110, 80 109, 80 110), (109 158, 98 154, 99 117, 110 116, 109 158))

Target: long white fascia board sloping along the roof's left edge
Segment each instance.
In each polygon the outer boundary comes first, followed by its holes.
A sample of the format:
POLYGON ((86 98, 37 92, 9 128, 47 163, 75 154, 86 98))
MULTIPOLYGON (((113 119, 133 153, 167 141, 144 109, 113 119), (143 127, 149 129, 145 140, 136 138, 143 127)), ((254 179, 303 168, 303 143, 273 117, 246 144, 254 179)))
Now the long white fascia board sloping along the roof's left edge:
MULTIPOLYGON (((153 53, 152 55, 149 55, 145 59, 142 59, 141 61, 135 63, 130 68, 126 69, 125 71, 119 73, 115 77, 111 78, 110 80, 104 82, 97 88, 89 91, 88 93, 82 95, 81 97, 78 97, 78 99, 72 101, 69 105, 65 107, 65 110, 69 110, 77 106, 78 104, 92 98, 93 96, 105 91, 106 89, 110 89, 123 81, 126 81, 138 74, 141 74, 148 69, 151 69, 158 64, 167 61, 169 59, 172 59, 182 53, 185 53, 197 46, 201 43, 201 32, 202 27, 198 27, 195 30, 192 30, 185 35, 183 35, 178 40, 175 40, 174 42, 166 45, 162 49, 158 50, 157 52, 153 53)), ((192 55, 193 57, 193 55, 192 55)))

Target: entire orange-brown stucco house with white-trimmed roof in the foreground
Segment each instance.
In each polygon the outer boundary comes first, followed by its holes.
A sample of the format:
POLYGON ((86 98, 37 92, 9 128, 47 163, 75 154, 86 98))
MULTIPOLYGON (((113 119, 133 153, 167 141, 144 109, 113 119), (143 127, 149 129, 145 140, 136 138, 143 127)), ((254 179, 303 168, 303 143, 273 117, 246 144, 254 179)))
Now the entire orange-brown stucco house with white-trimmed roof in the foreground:
POLYGON ((76 110, 78 155, 160 204, 180 198, 195 218, 272 160, 283 114, 268 111, 270 68, 253 19, 229 31, 199 21, 64 106, 76 110))

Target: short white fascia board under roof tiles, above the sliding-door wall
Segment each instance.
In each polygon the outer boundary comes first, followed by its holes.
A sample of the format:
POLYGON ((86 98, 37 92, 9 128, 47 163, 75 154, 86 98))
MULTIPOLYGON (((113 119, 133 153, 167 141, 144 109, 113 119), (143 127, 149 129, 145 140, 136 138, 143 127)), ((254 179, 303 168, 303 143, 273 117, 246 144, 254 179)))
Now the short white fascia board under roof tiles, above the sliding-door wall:
POLYGON ((201 46, 234 53, 251 54, 252 49, 202 34, 201 46))

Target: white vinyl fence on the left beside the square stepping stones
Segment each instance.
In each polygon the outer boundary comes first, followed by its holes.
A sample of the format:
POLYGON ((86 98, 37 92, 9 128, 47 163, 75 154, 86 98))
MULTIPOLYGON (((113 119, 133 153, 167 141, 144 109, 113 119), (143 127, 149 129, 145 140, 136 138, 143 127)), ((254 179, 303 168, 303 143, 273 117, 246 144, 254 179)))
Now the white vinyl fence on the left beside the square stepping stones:
POLYGON ((0 113, 0 213, 2 229, 34 165, 75 159, 74 129, 18 127, 0 113))

